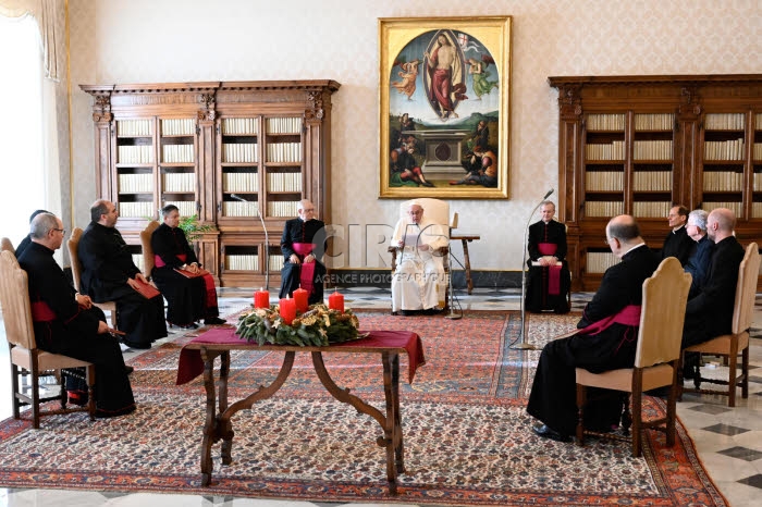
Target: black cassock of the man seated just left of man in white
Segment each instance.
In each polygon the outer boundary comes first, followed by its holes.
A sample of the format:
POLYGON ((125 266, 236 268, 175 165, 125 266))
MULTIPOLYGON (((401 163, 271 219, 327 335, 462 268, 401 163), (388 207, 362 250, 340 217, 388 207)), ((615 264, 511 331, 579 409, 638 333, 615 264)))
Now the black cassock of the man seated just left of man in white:
POLYGON ((315 249, 315 276, 312 277, 312 292, 309 295, 309 304, 323 301, 323 277, 325 276, 325 265, 322 263, 325 252, 325 224, 320 220, 308 220, 305 222, 300 218, 288 220, 283 227, 281 237, 281 251, 285 260, 281 270, 281 292, 279 297, 292 296, 294 290, 299 288, 299 275, 302 264, 293 264, 288 259, 295 253, 302 262, 306 256, 300 256, 294 250, 295 243, 312 243, 315 249))

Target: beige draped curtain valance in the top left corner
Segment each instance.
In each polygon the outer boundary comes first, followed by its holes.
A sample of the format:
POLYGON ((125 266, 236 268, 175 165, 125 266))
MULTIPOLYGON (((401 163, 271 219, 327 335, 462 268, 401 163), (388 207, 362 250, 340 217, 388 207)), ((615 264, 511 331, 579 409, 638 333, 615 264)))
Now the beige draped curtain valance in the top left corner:
POLYGON ((0 0, 0 15, 19 17, 25 14, 37 20, 45 55, 45 76, 59 79, 59 58, 63 54, 63 33, 59 20, 64 15, 64 0, 0 0))

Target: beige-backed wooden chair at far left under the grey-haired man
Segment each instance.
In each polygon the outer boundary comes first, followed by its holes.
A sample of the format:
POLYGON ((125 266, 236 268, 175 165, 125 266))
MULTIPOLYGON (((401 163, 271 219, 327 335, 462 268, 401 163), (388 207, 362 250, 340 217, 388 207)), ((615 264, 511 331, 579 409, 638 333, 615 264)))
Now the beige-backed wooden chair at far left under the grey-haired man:
POLYGON ((10 251, 0 252, 0 304, 5 325, 5 336, 10 347, 11 384, 13 387, 13 418, 21 418, 21 407, 32 407, 32 425, 39 428, 41 416, 87 411, 90 420, 95 420, 95 364, 74 359, 60 354, 46 353, 37 348, 35 330, 32 322, 32 305, 29 304, 27 275, 21 269, 16 258, 10 251), (83 368, 87 382, 88 401, 86 407, 66 408, 66 375, 76 375, 69 369, 83 368), (56 396, 40 398, 39 376, 44 371, 57 371, 61 379, 61 391, 56 396), (29 394, 20 388, 19 376, 27 374, 30 380, 29 394), (60 409, 40 410, 40 404, 59 399, 60 409))

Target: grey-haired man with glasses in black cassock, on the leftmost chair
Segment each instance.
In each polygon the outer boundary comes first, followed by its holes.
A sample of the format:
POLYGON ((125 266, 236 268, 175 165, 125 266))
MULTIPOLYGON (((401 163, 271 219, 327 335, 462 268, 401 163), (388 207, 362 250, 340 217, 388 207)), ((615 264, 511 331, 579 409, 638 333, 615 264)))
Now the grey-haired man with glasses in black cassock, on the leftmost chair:
MULTIPOLYGON (((77 294, 53 259, 65 232, 61 219, 44 212, 32 220, 29 245, 19 258, 29 283, 29 302, 37 346, 96 367, 96 417, 110 418, 135 411, 135 398, 119 341, 110 334, 103 312, 88 296, 77 294)), ((84 382, 67 378, 69 400, 87 403, 84 382), (84 387, 84 388, 83 388, 84 387)))

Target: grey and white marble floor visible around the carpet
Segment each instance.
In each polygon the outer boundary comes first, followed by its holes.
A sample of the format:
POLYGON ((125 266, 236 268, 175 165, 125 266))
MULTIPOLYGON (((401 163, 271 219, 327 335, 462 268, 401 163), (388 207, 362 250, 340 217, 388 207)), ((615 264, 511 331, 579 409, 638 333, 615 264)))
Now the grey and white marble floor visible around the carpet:
MULTIPOLYGON (((345 302, 351 308, 391 309, 388 289, 357 288, 342 290, 345 302)), ((518 310, 520 309, 520 290, 517 289, 474 289, 467 295, 456 290, 456 305, 453 311, 470 309, 518 310)), ((574 294, 573 307, 581 309, 590 294, 574 294)), ((230 314, 249 305, 250 290, 220 289, 222 314, 230 314)), ((0 326, 0 334, 4 329, 0 326)), ((172 339, 176 332, 171 332, 164 339, 172 339)), ((750 347, 749 398, 740 398, 737 406, 727 407, 727 398, 712 395, 686 395, 677 406, 677 413, 683 424, 689 430, 700 459, 720 491, 733 507, 760 505, 762 495, 762 296, 758 295, 754 325, 750 347)), ((127 349, 125 360, 143 354, 142 350, 127 349)), ((0 338, 0 363, 8 364, 8 343, 0 338)), ((723 367, 717 367, 722 374, 723 367)), ((0 393, 10 391, 10 372, 8 368, 0 371, 0 393)), ((11 417, 10 397, 0 395, 0 420, 11 417)), ((41 507, 41 506, 120 506, 138 507, 161 505, 174 506, 256 506, 256 507, 302 507, 321 506, 339 507, 337 503, 308 503, 290 500, 270 500, 236 498, 213 495, 149 494, 149 493, 100 493, 67 490, 29 490, 1 489, 0 507, 41 507)), ((357 504, 365 507, 373 504, 357 504)), ((398 504, 397 504, 398 505, 398 504)))

